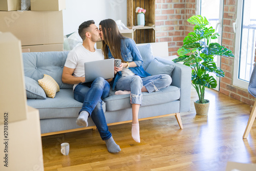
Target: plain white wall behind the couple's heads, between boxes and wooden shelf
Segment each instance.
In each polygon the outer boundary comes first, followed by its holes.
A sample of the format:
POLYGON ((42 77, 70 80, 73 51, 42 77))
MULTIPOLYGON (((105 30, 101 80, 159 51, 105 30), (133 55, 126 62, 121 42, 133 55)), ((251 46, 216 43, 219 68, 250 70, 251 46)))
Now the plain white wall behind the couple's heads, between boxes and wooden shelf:
POLYGON ((66 0, 66 9, 63 10, 64 35, 77 31, 79 25, 93 19, 98 26, 103 19, 112 18, 121 20, 126 26, 126 0, 66 0))

